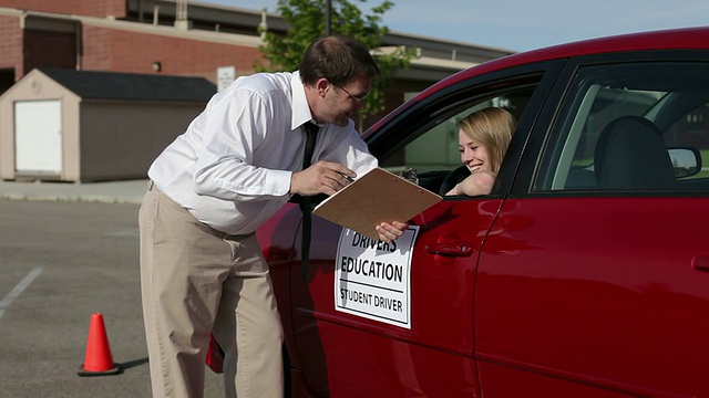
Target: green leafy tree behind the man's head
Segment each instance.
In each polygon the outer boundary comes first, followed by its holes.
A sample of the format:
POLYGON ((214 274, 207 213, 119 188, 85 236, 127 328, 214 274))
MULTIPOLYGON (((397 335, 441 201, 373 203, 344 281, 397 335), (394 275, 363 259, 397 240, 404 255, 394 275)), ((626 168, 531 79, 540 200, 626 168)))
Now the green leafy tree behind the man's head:
MULTIPOLYGON (((359 40, 374 55, 381 70, 381 78, 372 83, 367 105, 359 115, 361 132, 363 118, 384 109, 384 87, 398 70, 409 66, 415 49, 381 48, 381 38, 389 32, 387 27, 380 25, 382 14, 394 6, 393 2, 384 0, 372 7, 369 15, 363 15, 352 1, 330 2, 330 33, 359 40)), ((354 2, 366 3, 367 0, 354 2)), ((261 72, 297 70, 308 45, 326 32, 327 9, 328 0, 278 0, 278 12, 288 24, 288 32, 286 35, 265 32, 265 44, 259 48, 265 62, 257 62, 254 69, 261 72)))

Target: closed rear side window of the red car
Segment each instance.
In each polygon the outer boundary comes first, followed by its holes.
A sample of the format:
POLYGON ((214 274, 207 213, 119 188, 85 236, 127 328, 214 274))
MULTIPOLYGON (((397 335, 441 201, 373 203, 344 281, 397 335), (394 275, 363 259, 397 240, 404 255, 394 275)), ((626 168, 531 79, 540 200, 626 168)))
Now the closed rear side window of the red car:
POLYGON ((707 189, 708 72, 668 62, 579 69, 535 190, 707 189))

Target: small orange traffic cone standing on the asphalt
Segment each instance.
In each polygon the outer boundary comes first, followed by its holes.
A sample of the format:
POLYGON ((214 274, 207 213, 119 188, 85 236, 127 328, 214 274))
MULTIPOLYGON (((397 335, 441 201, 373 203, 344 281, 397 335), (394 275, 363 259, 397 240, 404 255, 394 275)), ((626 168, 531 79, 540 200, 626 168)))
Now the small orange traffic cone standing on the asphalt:
POLYGON ((117 375, 121 371, 123 371, 121 365, 113 363, 103 315, 91 314, 86 355, 83 365, 79 368, 79 376, 117 375))

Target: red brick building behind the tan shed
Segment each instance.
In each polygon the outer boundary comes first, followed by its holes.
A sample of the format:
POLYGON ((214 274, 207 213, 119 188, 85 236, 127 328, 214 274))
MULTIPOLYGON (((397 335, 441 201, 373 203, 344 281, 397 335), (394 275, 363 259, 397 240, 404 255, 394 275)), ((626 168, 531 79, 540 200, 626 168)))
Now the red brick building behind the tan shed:
MULTIPOLYGON (((0 94, 38 67, 203 77, 218 86, 254 72, 259 27, 288 29, 275 13, 187 0, 0 0, 0 94)), ((395 32, 382 45, 419 55, 388 87, 387 112, 454 72, 512 53, 395 32)), ((0 121, 0 136, 14 135, 2 130, 11 125, 0 121)), ((0 159, 8 150, 0 146, 0 159)))

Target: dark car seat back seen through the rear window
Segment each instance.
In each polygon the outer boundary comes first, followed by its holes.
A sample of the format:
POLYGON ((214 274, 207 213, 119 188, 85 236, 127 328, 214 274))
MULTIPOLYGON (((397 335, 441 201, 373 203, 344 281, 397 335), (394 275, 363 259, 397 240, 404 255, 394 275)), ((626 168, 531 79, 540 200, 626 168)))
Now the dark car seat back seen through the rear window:
POLYGON ((662 135, 645 117, 612 121, 598 137, 594 161, 600 189, 671 189, 677 182, 662 135))

